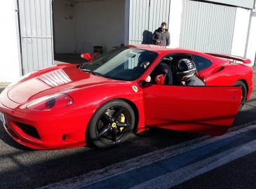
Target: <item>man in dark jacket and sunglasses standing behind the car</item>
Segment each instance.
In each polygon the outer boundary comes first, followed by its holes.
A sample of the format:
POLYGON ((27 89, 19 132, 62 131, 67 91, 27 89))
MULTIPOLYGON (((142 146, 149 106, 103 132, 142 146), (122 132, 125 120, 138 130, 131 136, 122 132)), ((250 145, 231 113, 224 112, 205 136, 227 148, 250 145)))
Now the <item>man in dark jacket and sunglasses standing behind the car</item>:
POLYGON ((170 45, 170 34, 166 29, 166 22, 161 24, 159 29, 156 29, 153 34, 153 42, 155 45, 168 46, 170 45))

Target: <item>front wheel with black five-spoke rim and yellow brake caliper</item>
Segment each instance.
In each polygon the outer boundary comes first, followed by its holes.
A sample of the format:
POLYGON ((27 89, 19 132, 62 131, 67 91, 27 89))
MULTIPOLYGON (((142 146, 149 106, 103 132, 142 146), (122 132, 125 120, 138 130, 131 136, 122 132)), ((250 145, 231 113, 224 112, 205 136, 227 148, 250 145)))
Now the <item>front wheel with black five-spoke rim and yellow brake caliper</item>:
POLYGON ((115 99, 102 104, 88 125, 90 142, 98 148, 121 144, 135 125, 135 114, 127 102, 115 99))

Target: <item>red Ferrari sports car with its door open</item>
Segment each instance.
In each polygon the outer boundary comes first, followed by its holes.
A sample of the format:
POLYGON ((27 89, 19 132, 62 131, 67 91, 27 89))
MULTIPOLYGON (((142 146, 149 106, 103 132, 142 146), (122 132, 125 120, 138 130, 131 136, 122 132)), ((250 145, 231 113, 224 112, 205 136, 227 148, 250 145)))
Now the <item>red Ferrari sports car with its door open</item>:
POLYGON ((0 118, 15 141, 34 149, 115 146, 150 127, 220 135, 252 93, 248 64, 230 55, 121 46, 91 62, 23 76, 1 92, 0 118), (194 62, 204 85, 180 85, 182 59, 194 62), (172 71, 172 85, 156 73, 160 63, 172 71))

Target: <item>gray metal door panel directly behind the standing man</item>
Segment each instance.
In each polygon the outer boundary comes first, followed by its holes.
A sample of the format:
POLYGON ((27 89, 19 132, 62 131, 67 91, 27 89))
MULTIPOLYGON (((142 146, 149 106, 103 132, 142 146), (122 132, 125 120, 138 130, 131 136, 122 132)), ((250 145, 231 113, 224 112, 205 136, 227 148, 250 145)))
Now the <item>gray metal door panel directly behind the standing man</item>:
POLYGON ((129 44, 151 43, 161 22, 169 21, 170 0, 130 0, 129 44))

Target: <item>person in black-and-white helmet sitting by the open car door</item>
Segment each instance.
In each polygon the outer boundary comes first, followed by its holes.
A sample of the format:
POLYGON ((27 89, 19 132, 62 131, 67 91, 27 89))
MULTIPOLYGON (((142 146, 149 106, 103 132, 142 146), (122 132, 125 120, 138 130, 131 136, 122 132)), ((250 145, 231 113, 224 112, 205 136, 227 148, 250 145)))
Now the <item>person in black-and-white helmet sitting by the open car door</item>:
POLYGON ((201 79, 196 76, 196 66, 190 59, 181 59, 177 65, 177 78, 180 85, 204 86, 201 79))

